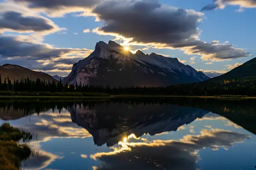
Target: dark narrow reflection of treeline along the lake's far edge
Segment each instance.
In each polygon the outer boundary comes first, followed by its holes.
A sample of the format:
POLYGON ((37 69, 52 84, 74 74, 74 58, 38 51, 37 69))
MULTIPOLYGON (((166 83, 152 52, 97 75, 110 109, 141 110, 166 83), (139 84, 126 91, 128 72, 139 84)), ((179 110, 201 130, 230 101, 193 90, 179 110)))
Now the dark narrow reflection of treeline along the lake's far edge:
POLYGON ((21 111, 28 114, 30 111, 41 113, 47 110, 71 108, 75 105, 84 108, 96 108, 104 105, 179 105, 194 108, 204 108, 215 112, 232 112, 244 115, 255 114, 256 106, 254 99, 201 99, 186 97, 162 97, 162 98, 113 98, 113 99, 2 99, 0 109, 3 111, 21 111), (75 100, 75 101, 74 101, 75 100))

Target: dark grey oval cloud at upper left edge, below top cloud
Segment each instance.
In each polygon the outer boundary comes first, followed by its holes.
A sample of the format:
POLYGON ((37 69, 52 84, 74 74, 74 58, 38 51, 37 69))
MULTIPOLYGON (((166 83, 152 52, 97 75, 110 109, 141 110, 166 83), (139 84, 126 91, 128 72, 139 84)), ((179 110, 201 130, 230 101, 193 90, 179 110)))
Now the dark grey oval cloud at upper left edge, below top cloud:
POLYGON ((15 11, 0 13, 0 31, 54 31, 57 26, 44 17, 25 17, 15 11))

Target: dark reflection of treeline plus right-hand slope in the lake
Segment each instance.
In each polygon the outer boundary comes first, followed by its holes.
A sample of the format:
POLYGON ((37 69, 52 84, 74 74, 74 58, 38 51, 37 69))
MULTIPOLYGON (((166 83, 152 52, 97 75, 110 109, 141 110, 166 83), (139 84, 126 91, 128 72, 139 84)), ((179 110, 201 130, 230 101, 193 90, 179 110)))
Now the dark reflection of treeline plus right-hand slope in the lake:
MULTIPOLYGON (((256 105, 254 99, 197 99, 197 98, 114 98, 114 99, 102 99, 98 100, 86 100, 80 99, 78 101, 68 101, 67 99, 49 100, 13 100, 5 99, 0 101, 0 118, 4 119, 8 117, 12 111, 21 113, 20 116, 26 116, 32 113, 42 113, 46 111, 56 111, 59 113, 68 108, 86 108, 97 109, 98 107, 109 107, 119 105, 123 109, 128 109, 127 106, 136 105, 176 105, 180 107, 191 107, 203 109, 212 113, 217 113, 221 116, 230 119, 232 122, 244 127, 250 132, 256 134, 255 122, 256 122, 256 105), (6 116, 7 115, 7 116, 6 116)), ((115 107, 113 107, 115 108, 115 107)), ((117 112, 116 112, 117 113, 117 112)), ((111 114, 111 113, 108 113, 111 114)), ((122 116, 122 110, 119 115, 122 116)), ((130 113, 133 114, 133 113, 130 113)), ((105 115, 106 116, 106 115, 105 115)), ((127 115, 126 115, 127 116, 127 115)), ((113 117, 113 115, 111 116, 113 117)))

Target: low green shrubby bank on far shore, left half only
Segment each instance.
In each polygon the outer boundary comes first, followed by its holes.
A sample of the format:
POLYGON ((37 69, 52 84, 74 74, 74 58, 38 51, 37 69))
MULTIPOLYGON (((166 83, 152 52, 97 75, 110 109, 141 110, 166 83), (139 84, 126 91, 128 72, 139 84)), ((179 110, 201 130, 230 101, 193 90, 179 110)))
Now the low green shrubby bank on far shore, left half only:
POLYGON ((18 91, 0 91, 0 96, 65 96, 65 97, 108 97, 106 93, 50 93, 50 92, 18 92, 18 91))

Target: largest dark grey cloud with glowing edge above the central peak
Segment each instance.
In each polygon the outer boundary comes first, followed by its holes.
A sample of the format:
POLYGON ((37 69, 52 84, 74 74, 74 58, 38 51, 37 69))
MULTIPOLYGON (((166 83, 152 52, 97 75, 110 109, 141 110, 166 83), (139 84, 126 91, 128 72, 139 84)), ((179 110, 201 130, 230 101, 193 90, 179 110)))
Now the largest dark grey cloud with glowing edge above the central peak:
POLYGON ((124 40, 123 45, 181 49, 186 54, 201 55, 204 60, 250 56, 232 44, 201 41, 198 25, 204 14, 194 10, 161 5, 157 0, 109 0, 92 12, 97 15, 97 21, 104 21, 93 32, 124 40))

